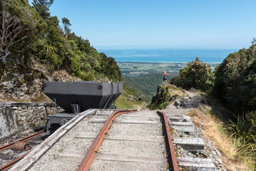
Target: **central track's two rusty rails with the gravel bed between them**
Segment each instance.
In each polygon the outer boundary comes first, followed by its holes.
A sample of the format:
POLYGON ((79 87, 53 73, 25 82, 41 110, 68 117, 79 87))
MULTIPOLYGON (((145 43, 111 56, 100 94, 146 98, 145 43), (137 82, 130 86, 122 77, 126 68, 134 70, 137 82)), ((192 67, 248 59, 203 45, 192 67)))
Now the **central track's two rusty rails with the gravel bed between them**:
MULTIPOLYGON (((78 170, 89 170, 89 168, 90 170, 166 170, 164 138, 159 129, 160 118, 156 113, 147 111, 147 113, 137 112, 130 115, 121 114, 123 111, 113 113, 106 120, 78 170), (118 118, 114 120, 116 117, 118 118), (138 117, 142 119, 138 120, 138 117), (110 127, 112 128, 108 133, 110 127), (155 132, 154 135, 151 134, 152 131, 155 132), (106 139, 103 141, 104 137, 106 139), (96 160, 93 161, 94 158, 96 160)), ((102 121, 91 120, 95 123, 102 121)), ((84 134, 78 137, 94 136, 84 134)), ((168 140, 171 141, 170 138, 168 140)), ((175 158, 175 153, 172 157, 175 158)), ((174 159, 173 163, 175 170, 178 170, 177 160, 174 159)))

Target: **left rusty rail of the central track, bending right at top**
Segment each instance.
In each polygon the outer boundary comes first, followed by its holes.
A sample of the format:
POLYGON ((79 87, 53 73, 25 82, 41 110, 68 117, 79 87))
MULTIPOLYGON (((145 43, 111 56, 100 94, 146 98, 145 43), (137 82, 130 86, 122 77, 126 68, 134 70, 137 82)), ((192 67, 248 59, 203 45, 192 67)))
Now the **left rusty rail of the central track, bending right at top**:
POLYGON ((81 165, 78 167, 77 171, 85 171, 89 169, 91 163, 93 162, 93 158, 96 156, 96 153, 98 152, 98 148, 101 146, 101 143, 103 142, 106 133, 108 133, 108 129, 111 127, 111 124, 116 119, 116 117, 123 113, 130 113, 133 111, 136 110, 117 110, 108 117, 106 123, 104 123, 96 139, 93 141, 93 144, 86 153, 86 157, 83 158, 83 161, 81 162, 81 165))

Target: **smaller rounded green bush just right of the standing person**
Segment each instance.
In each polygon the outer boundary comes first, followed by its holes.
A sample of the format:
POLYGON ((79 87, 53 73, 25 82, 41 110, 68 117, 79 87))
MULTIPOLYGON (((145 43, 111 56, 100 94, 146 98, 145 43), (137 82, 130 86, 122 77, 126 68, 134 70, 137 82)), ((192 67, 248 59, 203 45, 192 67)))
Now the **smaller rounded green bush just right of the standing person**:
POLYGON ((182 88, 196 88, 207 91, 213 85, 213 73, 210 64, 203 63, 196 58, 195 61, 180 70, 177 77, 172 78, 171 84, 182 88))

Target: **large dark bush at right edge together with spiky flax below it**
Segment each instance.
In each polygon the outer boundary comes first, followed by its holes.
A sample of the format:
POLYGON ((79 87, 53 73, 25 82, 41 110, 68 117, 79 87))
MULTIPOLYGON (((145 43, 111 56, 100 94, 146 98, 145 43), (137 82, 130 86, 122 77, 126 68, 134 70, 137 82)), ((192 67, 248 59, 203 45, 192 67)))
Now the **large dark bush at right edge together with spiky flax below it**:
POLYGON ((236 118, 227 128, 234 138, 242 160, 256 160, 256 45, 230 53, 215 68, 215 81, 210 92, 236 118))

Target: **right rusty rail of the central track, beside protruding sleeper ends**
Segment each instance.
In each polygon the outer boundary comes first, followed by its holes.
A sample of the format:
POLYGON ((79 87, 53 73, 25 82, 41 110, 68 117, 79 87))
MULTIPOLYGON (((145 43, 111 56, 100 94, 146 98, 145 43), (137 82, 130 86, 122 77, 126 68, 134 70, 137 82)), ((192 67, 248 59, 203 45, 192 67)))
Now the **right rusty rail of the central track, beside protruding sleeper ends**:
POLYGON ((165 115, 165 113, 160 112, 159 110, 158 110, 158 114, 163 115, 164 127, 166 131, 166 140, 168 141, 168 150, 169 150, 168 152, 170 153, 169 159, 173 164, 173 171, 178 171, 179 170, 178 161, 177 161, 175 150, 173 147, 173 138, 172 138, 172 135, 170 135, 170 126, 167 120, 167 116, 165 115))

